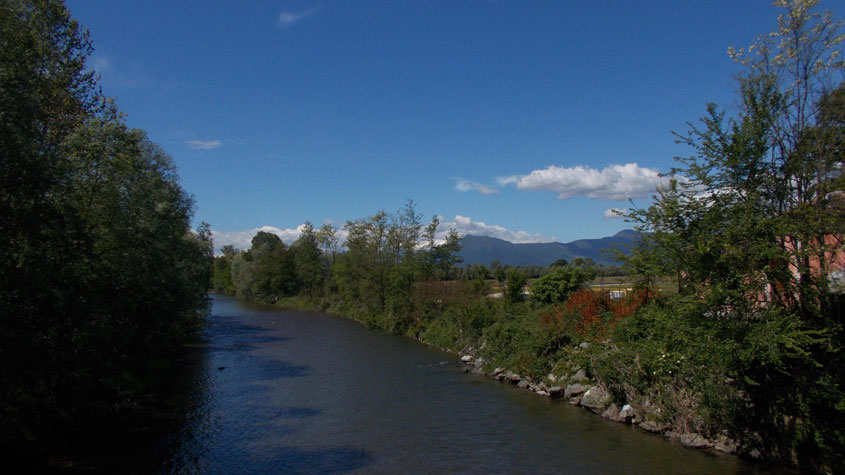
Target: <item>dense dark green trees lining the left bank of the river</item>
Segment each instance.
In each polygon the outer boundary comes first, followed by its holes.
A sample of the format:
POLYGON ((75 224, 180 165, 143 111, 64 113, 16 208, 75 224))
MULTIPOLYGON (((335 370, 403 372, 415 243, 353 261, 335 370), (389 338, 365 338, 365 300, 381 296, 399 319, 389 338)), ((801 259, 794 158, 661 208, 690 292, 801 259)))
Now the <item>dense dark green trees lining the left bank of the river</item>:
POLYGON ((0 446, 111 417, 207 311, 207 225, 60 1, 0 3, 0 446))

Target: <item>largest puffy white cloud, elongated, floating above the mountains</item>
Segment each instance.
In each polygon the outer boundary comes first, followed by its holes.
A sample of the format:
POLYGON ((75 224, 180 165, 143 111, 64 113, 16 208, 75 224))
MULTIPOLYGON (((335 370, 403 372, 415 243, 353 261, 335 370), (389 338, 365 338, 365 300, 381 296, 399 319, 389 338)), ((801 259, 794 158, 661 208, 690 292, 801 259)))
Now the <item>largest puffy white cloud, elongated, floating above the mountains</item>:
POLYGON ((499 183, 513 183, 520 190, 553 191, 561 200, 575 196, 626 200, 652 195, 658 185, 668 183, 668 178, 661 177, 657 170, 643 168, 636 163, 611 165, 602 170, 581 165, 570 168, 552 165, 528 175, 500 178, 499 183))

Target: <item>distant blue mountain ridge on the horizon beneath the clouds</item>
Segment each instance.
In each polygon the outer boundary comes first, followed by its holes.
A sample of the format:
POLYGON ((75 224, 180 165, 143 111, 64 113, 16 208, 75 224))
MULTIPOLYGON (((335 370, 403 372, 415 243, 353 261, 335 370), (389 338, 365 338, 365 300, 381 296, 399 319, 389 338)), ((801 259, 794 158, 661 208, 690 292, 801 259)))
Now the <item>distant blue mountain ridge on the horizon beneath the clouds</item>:
POLYGON ((569 243, 547 242, 514 244, 488 236, 464 236, 461 239, 463 265, 490 264, 498 259, 502 265, 547 266, 558 259, 590 258, 597 264, 613 265, 616 262, 602 252, 603 249, 622 248, 636 244, 639 234, 626 229, 613 236, 600 239, 579 239, 569 243))

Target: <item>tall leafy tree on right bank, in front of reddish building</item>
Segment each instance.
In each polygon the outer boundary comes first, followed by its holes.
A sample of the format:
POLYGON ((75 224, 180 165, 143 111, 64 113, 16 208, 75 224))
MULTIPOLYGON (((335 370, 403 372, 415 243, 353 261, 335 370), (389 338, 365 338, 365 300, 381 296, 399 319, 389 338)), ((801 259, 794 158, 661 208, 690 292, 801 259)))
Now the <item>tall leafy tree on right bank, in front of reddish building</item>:
POLYGON ((629 263, 677 276, 667 321, 754 348, 728 364, 747 398, 731 416, 741 430, 761 434, 771 456, 825 471, 842 463, 845 424, 842 296, 828 265, 845 235, 845 35, 816 3, 776 2, 777 31, 729 50, 746 67, 739 110, 711 104, 679 135, 694 155, 630 214, 643 242, 629 263))

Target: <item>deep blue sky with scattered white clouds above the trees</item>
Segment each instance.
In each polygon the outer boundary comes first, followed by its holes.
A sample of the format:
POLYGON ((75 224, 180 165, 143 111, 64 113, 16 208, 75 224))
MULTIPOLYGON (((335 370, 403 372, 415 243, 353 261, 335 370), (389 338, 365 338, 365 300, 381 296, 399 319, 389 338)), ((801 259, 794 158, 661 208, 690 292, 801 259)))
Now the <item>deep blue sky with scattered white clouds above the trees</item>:
MULTIPOLYGON (((768 0, 69 0, 127 124, 215 247, 407 200, 441 230, 568 242, 632 227, 768 0)), ((823 8, 833 4, 822 2, 823 8)), ((838 13, 838 12, 836 12, 838 13)))

